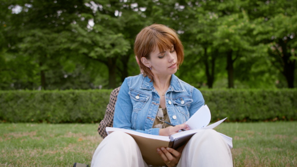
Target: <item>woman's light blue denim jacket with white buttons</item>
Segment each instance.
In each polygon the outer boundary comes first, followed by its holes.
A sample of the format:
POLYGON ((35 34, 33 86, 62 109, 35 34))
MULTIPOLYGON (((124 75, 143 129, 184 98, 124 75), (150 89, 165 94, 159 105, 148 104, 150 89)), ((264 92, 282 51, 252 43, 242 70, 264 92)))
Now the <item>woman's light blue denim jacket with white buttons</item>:
MULTIPOLYGON (((148 77, 140 74, 126 78, 117 98, 113 127, 159 135, 160 128, 152 128, 152 125, 159 108, 160 95, 148 77)), ((204 105, 201 92, 175 75, 171 76, 165 100, 170 122, 174 125, 185 123, 204 105)))

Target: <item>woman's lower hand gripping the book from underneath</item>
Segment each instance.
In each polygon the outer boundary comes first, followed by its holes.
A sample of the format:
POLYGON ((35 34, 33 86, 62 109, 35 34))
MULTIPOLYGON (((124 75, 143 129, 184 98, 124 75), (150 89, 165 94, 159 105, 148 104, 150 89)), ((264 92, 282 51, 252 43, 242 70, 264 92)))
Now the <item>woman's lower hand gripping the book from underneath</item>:
POLYGON ((174 167, 176 164, 178 164, 183 151, 184 146, 181 148, 178 148, 177 150, 174 150, 173 148, 157 148, 157 153, 159 156, 163 159, 164 163, 167 167, 174 167))

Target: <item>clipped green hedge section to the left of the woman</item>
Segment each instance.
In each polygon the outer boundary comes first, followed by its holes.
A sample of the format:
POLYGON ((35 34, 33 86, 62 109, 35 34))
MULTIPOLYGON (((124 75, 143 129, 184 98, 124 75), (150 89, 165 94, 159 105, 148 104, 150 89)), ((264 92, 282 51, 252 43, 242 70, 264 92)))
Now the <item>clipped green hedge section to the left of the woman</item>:
POLYGON ((4 122, 94 123, 104 117, 110 90, 1 91, 4 122))

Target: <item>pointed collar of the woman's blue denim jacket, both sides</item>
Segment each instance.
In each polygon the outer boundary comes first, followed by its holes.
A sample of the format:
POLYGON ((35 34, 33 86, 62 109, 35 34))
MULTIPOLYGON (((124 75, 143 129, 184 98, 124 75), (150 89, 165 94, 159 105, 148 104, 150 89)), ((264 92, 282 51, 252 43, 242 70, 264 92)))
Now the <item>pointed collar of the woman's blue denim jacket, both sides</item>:
MULTIPOLYGON (((150 79, 148 78, 148 76, 143 77, 140 88, 147 89, 147 90, 153 89, 153 82, 150 82, 150 79)), ((175 91, 175 92, 184 91, 180 83, 180 80, 174 74, 171 75, 171 81, 170 81, 170 86, 168 88, 168 91, 175 91)))

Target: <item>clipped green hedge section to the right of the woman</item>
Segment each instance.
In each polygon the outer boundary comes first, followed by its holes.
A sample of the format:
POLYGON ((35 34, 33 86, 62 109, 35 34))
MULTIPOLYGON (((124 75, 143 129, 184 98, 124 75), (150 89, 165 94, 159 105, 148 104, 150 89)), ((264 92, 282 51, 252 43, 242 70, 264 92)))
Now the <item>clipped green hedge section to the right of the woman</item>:
POLYGON ((212 121, 297 120, 297 89, 201 90, 212 121))

